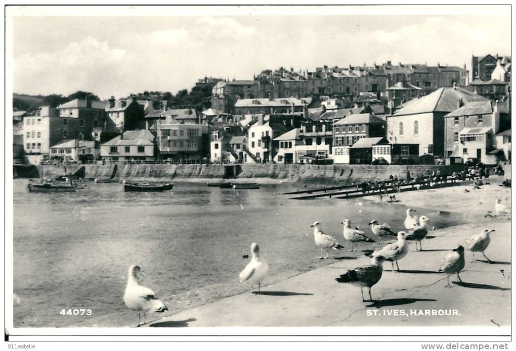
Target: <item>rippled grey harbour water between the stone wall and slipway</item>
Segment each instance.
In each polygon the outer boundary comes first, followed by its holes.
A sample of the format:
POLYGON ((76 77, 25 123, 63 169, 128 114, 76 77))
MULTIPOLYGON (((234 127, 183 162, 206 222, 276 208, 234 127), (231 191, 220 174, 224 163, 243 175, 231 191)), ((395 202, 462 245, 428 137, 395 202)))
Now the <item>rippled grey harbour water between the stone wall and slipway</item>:
MULTIPOLYGON (((281 193, 296 190, 290 185, 237 191, 175 183, 172 192, 126 193, 121 184, 88 182, 75 193, 40 194, 28 193, 27 184, 14 179, 16 327, 136 323, 123 303, 133 263, 146 272, 143 285, 171 311, 246 291, 238 274, 252 242, 260 244, 269 263, 267 283, 334 261, 317 258, 313 222, 346 245, 344 219, 367 233, 373 219, 398 231, 406 209, 402 202, 289 200, 281 193), (59 313, 75 308, 92 314, 59 313)), ((436 228, 464 222, 460 215, 416 210, 436 228)))

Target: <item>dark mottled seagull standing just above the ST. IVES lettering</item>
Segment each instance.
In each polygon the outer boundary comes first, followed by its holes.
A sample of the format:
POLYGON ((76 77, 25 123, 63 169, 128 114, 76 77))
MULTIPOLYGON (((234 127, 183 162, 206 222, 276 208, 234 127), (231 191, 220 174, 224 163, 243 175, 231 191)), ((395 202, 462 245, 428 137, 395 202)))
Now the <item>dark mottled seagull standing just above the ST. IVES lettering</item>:
POLYGON ((374 256, 372 260, 373 264, 357 267, 354 270, 349 270, 347 273, 342 274, 338 278, 335 278, 335 280, 340 283, 358 285, 360 287, 360 292, 362 293, 363 302, 366 302, 364 299, 363 289, 366 287, 369 288, 368 301, 372 302, 373 297, 371 296, 371 287, 374 286, 382 277, 383 262, 385 262, 385 257, 381 255, 374 256))

